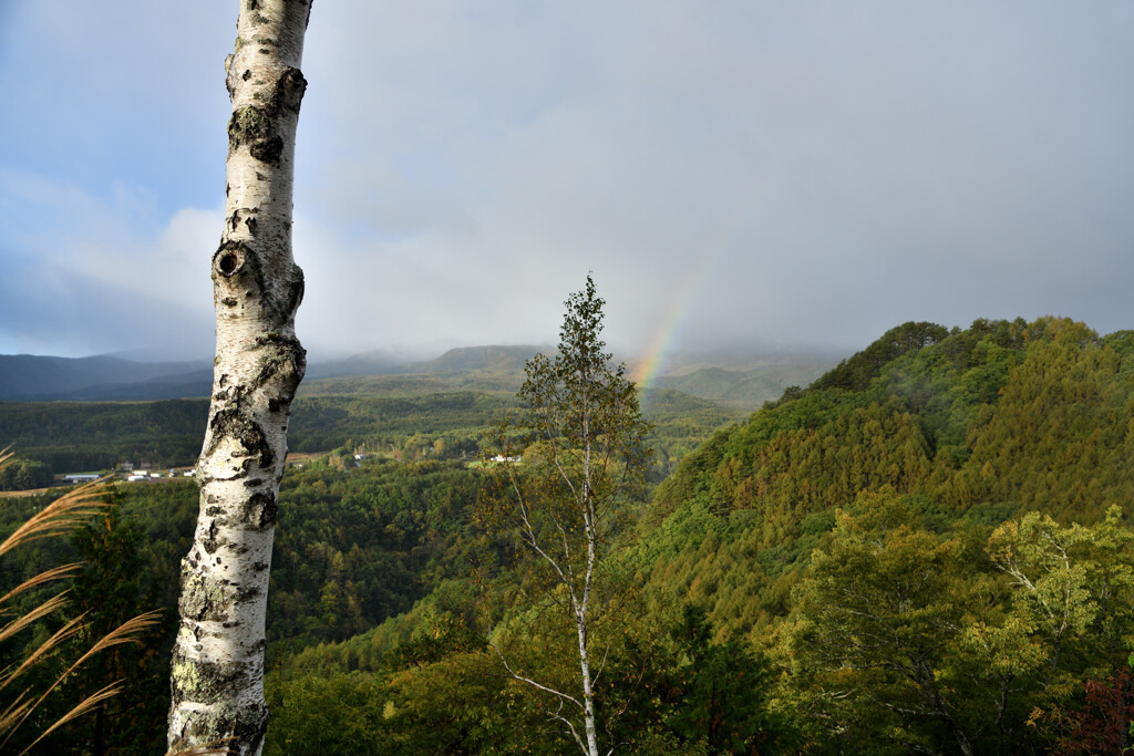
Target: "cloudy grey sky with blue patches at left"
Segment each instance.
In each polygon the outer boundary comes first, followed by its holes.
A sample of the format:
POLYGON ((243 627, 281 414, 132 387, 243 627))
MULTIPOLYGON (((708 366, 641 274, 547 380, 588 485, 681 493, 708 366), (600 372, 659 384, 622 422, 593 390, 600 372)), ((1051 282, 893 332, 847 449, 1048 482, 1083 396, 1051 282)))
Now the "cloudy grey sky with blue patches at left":
MULTIPOLYGON (((0 354, 212 350, 232 0, 0 0, 0 354)), ((318 355, 1134 328, 1134 3, 320 0, 318 355)))

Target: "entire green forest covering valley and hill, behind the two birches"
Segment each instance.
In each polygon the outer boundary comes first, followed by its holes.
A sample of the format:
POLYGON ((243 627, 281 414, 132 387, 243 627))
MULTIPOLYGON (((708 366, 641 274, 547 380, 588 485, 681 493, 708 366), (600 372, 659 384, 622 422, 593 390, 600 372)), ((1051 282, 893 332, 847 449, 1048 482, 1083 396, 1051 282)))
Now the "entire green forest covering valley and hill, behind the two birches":
MULTIPOLYGON (((485 520, 491 467, 468 464, 508 400, 307 401, 325 425, 297 404, 297 443, 336 451, 281 485, 265 753, 569 753, 556 702, 501 666, 570 686, 569 622, 516 534, 485 520)), ((675 391, 644 406, 655 485, 609 534, 594 629, 616 753, 1127 747, 1134 332, 907 323, 742 422, 675 391)), ((203 417, 193 402, 117 407, 137 418, 130 443, 147 411, 203 417)), ((74 433, 67 453, 94 453, 91 428, 116 422, 67 416, 51 426, 74 433)), ((159 428, 177 435, 158 424, 154 443, 159 428)), ((51 447, 34 459, 50 464, 51 447)), ((109 627, 164 610, 144 644, 76 677, 69 697, 116 671, 130 683, 44 753, 162 744, 196 487, 119 484, 111 498, 69 540, 6 557, 0 592, 84 559, 68 611, 109 627)), ((5 536, 46 499, 0 501, 5 536)), ((35 640, 0 645, 0 668, 35 640)))

